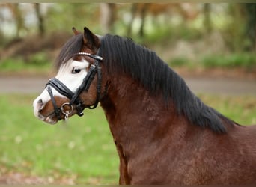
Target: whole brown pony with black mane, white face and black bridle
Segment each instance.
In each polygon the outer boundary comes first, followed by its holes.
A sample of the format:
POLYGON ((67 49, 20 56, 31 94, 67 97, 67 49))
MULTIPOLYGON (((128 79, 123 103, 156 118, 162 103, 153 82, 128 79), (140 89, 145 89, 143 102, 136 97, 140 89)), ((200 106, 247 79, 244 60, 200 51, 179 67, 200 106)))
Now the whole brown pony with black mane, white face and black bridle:
POLYGON ((40 120, 82 116, 100 102, 120 158, 120 184, 256 183, 256 126, 205 105, 132 40, 73 31, 57 76, 34 100, 40 120))

